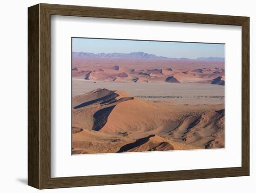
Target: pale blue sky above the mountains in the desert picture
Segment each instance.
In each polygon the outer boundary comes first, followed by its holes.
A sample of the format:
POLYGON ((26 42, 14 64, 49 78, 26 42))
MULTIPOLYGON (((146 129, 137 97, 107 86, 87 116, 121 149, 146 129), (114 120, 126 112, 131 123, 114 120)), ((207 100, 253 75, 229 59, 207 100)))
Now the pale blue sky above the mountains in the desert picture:
POLYGON ((72 38, 73 51, 130 53, 143 51, 169 58, 224 57, 224 44, 72 38))

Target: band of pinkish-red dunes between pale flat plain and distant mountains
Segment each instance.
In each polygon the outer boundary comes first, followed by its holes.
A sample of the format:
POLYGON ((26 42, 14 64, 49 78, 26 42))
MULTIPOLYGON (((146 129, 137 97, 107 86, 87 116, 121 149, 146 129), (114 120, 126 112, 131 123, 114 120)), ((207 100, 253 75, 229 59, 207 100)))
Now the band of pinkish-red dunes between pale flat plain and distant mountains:
POLYGON ((73 58, 72 74, 73 78, 93 81, 152 83, 168 79, 166 82, 171 83, 210 84, 224 76, 224 63, 180 59, 73 58))

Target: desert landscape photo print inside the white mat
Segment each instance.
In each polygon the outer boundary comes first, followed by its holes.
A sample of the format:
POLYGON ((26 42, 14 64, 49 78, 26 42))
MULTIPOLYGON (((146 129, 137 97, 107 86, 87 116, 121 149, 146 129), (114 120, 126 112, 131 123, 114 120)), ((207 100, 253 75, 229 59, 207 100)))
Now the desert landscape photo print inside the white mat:
POLYGON ((72 38, 72 154, 225 148, 224 45, 72 38))

